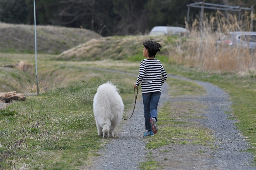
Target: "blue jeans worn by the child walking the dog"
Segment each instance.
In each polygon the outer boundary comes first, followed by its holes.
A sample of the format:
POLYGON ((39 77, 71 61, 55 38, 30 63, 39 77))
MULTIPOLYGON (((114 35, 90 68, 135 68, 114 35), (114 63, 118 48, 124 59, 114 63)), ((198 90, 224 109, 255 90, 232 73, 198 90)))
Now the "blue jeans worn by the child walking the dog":
POLYGON ((161 96, 161 92, 142 93, 144 105, 144 118, 146 130, 152 130, 149 120, 155 117, 157 122, 157 106, 161 96))

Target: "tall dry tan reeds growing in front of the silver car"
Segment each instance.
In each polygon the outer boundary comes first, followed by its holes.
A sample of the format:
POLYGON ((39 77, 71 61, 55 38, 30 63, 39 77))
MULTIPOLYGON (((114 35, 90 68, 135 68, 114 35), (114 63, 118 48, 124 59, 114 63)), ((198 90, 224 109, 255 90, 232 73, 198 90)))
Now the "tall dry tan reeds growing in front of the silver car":
POLYGON ((169 61, 188 67, 200 67, 218 72, 248 72, 256 69, 256 55, 248 48, 230 48, 216 45, 216 41, 231 31, 249 31, 251 20, 236 16, 225 18, 217 11, 207 16, 202 23, 195 20, 189 38, 180 38, 169 50, 169 61))

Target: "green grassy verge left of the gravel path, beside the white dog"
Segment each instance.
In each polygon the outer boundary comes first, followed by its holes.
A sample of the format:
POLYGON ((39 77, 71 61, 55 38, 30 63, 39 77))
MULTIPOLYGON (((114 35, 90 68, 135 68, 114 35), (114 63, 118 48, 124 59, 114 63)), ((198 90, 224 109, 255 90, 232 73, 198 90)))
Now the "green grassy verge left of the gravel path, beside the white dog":
MULTIPOLYGON (((74 69, 65 68, 63 69, 74 69)), ((67 70, 66 70, 67 71, 67 70)), ((86 69, 77 69, 83 73, 86 69)), ((92 100, 97 87, 111 80, 119 88, 128 110, 133 89, 124 81, 134 76, 94 70, 94 77, 68 82, 26 101, 15 101, 0 112, 2 168, 74 169, 101 147, 92 100), (120 81, 121 80, 121 81, 120 81)), ((86 72, 91 74, 91 72, 86 72)))

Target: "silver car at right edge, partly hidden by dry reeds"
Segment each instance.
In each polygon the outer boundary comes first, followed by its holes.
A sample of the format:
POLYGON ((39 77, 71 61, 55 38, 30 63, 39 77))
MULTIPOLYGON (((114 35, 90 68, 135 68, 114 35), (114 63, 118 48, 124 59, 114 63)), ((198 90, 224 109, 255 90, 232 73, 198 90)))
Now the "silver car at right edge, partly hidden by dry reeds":
POLYGON ((256 49, 256 32, 230 32, 216 41, 217 46, 256 49))

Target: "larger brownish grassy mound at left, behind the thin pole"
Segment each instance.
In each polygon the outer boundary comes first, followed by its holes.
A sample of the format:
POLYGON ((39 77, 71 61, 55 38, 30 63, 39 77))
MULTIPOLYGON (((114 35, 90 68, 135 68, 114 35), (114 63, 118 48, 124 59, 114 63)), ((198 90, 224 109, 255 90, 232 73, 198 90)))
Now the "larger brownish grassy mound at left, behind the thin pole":
MULTIPOLYGON (((37 52, 58 54, 101 36, 91 30, 36 26, 37 52)), ((0 23, 0 52, 34 53, 35 27, 0 23)))

